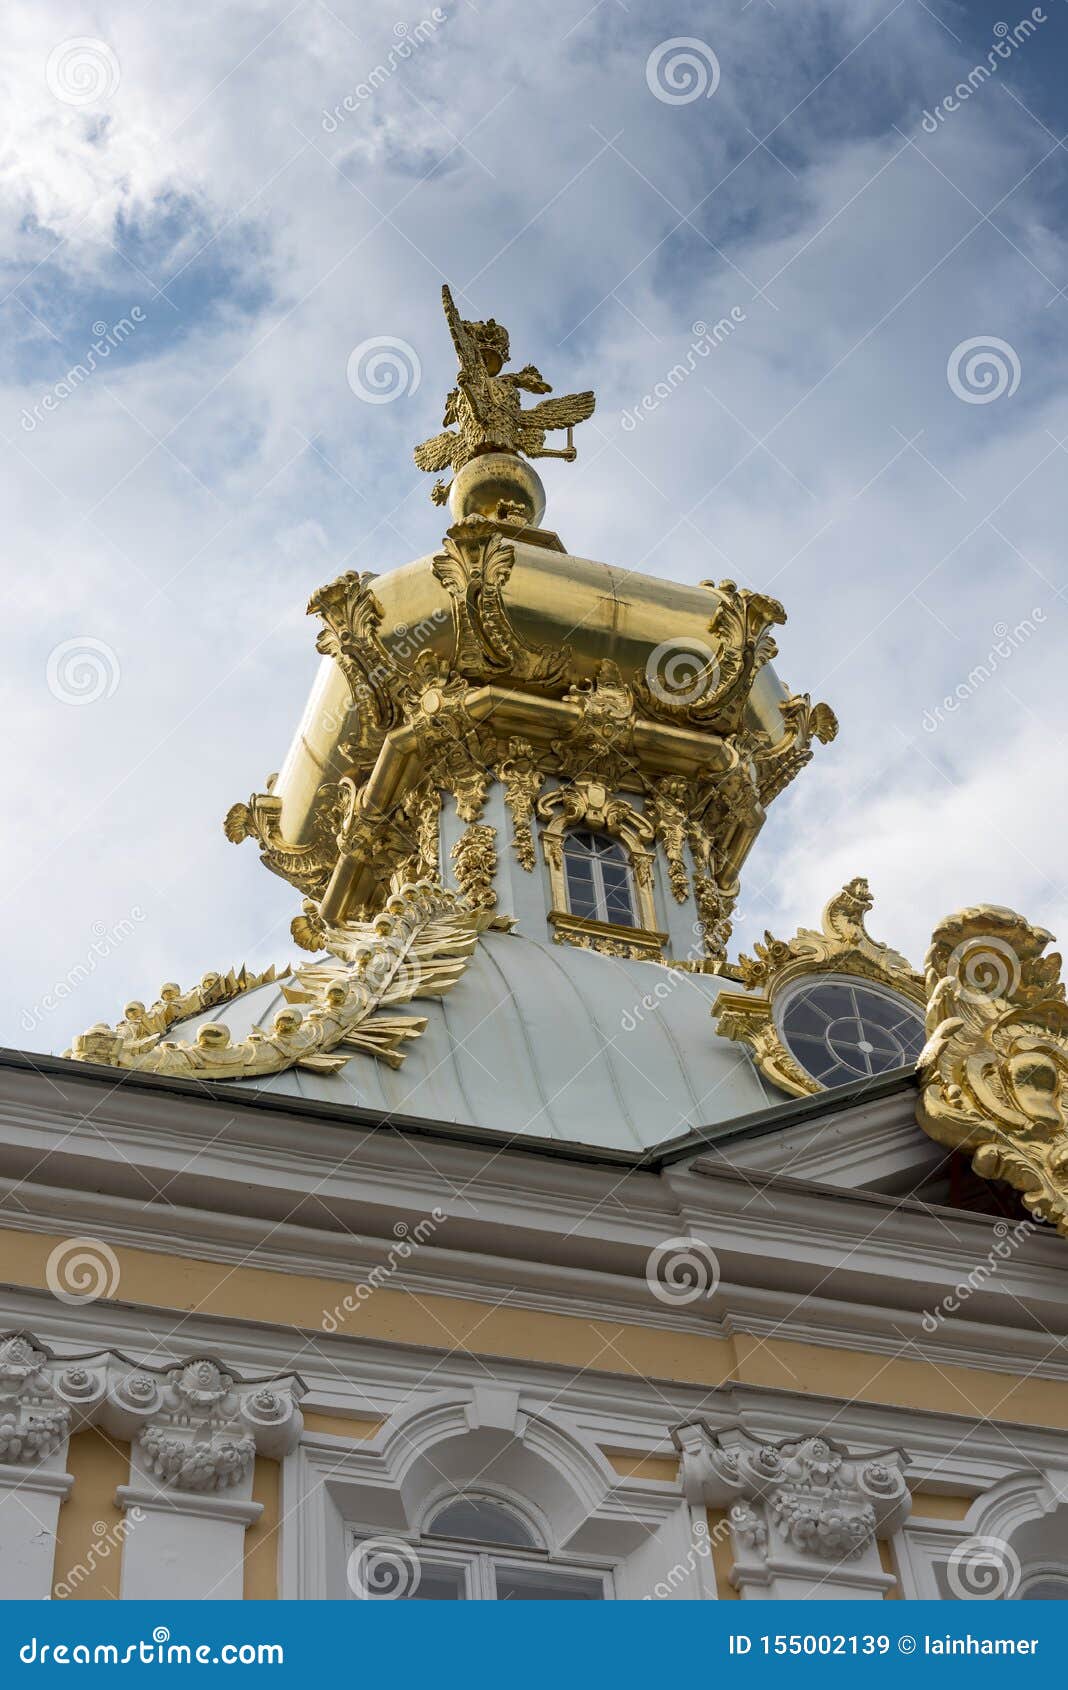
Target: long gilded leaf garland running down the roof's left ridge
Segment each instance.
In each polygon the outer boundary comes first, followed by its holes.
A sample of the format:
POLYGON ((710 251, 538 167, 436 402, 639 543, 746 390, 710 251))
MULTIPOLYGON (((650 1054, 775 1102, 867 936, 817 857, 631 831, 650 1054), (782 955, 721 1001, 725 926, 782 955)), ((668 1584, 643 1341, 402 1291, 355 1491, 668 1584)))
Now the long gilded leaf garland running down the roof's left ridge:
POLYGON ((204 982, 221 980, 235 997, 275 979, 274 970, 259 977, 242 970, 206 975, 193 994, 164 987, 152 1011, 128 1004, 123 1021, 115 1028, 90 1028, 68 1055, 110 1068, 201 1080, 245 1080, 286 1068, 335 1073, 358 1053, 399 1068, 404 1043, 422 1033, 426 1017, 397 1014, 397 1007, 448 992, 487 924, 488 918, 465 908, 455 892, 428 882, 406 886, 373 921, 321 924, 331 957, 279 977, 286 1007, 270 1028, 253 1028, 233 1041, 225 1024, 210 1021, 193 1039, 164 1038, 176 1021, 226 1000, 216 995, 215 984, 206 989, 204 982))

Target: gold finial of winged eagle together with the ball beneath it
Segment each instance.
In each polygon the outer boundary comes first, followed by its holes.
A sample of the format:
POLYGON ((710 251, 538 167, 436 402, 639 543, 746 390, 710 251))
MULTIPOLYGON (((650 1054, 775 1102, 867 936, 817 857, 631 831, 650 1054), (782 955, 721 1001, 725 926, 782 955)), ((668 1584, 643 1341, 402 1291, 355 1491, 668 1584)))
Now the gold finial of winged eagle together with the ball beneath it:
POLYGON ((519 394, 549 394, 532 363, 502 375, 509 362, 509 331, 490 318, 468 323, 460 316, 448 289, 441 289, 444 319, 453 336, 460 377, 444 402, 444 429, 416 446, 416 463, 431 475, 450 468, 451 483, 436 482, 431 499, 450 502, 453 517, 483 515, 497 521, 524 522, 536 527, 544 512, 541 477, 527 458, 563 458, 575 463, 578 451, 571 438, 576 422, 593 416, 591 392, 542 399, 524 411, 519 394), (456 424, 451 428, 450 424, 456 424), (548 450, 551 429, 566 428, 568 444, 548 450))

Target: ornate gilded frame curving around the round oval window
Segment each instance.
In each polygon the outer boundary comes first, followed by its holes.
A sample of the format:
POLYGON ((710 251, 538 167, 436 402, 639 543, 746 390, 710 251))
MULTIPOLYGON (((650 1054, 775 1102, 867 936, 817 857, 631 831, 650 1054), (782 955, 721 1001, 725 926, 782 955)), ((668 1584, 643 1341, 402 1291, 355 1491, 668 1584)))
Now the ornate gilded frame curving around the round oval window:
POLYGON ((738 957, 738 975, 749 992, 720 992, 715 1000, 713 1012, 722 1038, 747 1044, 760 1073, 791 1097, 821 1090, 779 1033, 776 1000, 796 980, 808 975, 850 975, 926 1007, 921 975, 907 958, 867 931, 865 916, 872 904, 867 880, 848 880, 825 906, 820 931, 798 928, 793 940, 766 933, 764 941, 754 945, 754 957, 738 957))

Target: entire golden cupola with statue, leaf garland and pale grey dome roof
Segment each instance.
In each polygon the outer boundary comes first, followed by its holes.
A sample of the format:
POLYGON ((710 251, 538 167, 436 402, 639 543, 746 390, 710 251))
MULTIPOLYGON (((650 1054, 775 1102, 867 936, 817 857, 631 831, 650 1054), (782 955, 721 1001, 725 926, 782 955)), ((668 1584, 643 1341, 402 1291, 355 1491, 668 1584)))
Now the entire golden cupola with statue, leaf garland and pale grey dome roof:
POLYGON ((460 368, 416 461, 451 473, 450 527, 313 593, 304 717, 225 821, 297 891, 314 957, 167 984, 71 1055, 644 1149, 781 1095, 767 1033, 717 1038, 715 1006, 745 857, 836 723, 777 679, 774 598, 564 549, 531 460, 575 460, 593 394, 551 395, 499 323, 444 309, 460 368))

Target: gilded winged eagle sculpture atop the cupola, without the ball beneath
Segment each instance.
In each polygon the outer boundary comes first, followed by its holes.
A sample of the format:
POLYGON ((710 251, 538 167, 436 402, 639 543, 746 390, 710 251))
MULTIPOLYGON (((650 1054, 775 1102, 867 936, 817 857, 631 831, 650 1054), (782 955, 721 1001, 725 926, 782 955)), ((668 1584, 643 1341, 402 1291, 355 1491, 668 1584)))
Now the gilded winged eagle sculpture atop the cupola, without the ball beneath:
MULTIPOLYGON (((448 286, 441 289, 444 319, 453 336, 460 375, 444 402, 444 429, 416 446, 416 463, 429 475, 451 470, 453 475, 490 451, 522 453, 527 458, 564 458, 575 463, 578 451, 571 439, 576 422, 593 416, 597 399, 591 392, 563 394, 542 399, 524 411, 519 394, 549 394, 549 382, 526 363, 522 370, 509 370, 509 331, 490 318, 487 323, 468 323, 460 316, 448 286), (455 424, 455 426, 453 426, 455 424), (551 429, 566 428, 568 444, 546 448, 551 429)), ((446 482, 436 482, 431 499, 443 505, 450 495, 446 482)))

